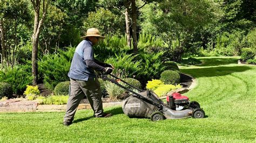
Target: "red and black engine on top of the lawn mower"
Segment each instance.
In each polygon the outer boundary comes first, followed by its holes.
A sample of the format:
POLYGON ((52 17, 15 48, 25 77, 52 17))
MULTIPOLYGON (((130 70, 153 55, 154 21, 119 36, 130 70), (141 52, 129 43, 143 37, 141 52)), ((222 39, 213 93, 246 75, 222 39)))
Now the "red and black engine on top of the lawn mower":
POLYGON ((183 109, 196 109, 200 108, 198 102, 190 102, 187 96, 183 96, 177 92, 173 93, 171 96, 166 97, 167 104, 172 110, 183 110, 183 109))

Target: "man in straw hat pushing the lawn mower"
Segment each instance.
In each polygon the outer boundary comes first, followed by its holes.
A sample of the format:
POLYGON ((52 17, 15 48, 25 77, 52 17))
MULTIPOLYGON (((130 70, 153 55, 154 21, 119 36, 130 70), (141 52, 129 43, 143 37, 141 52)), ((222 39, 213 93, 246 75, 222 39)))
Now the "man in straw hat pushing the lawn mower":
POLYGON ((100 35, 97 28, 89 28, 86 35, 81 38, 84 40, 76 48, 68 74, 70 77, 70 95, 63 120, 63 125, 66 126, 72 124, 77 107, 85 95, 95 117, 112 116, 111 113, 103 112, 100 84, 94 71, 104 71, 107 74, 113 71, 112 65, 99 62, 93 56, 92 46, 104 37, 100 35))

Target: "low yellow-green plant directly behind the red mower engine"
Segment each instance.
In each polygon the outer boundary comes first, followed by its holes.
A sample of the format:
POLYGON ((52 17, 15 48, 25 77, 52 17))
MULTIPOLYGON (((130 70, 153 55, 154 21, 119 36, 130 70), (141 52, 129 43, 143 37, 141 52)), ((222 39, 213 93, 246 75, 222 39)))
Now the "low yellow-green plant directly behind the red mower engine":
POLYGON ((181 85, 172 85, 172 84, 163 84, 160 87, 158 87, 156 90, 154 90, 154 92, 159 96, 165 96, 169 91, 174 90, 174 89, 178 89, 181 88, 181 85))

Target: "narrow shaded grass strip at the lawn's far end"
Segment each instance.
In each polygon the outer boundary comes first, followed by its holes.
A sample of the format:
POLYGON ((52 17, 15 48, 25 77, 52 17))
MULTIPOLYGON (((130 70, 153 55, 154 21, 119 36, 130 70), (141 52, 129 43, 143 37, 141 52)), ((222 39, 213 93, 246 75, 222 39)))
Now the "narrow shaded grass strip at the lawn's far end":
POLYGON ((229 65, 231 63, 237 63, 236 58, 200 58, 200 61, 204 62, 202 65, 197 65, 198 67, 204 66, 220 66, 229 65))

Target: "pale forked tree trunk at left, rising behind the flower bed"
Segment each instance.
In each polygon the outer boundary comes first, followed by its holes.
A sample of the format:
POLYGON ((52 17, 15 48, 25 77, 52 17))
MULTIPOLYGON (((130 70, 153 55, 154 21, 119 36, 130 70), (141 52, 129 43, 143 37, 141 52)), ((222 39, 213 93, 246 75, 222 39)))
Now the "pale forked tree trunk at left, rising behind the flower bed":
POLYGON ((50 3, 50 0, 31 0, 33 5, 33 9, 35 12, 35 19, 34 19, 34 30, 32 35, 32 76, 33 76, 33 85, 37 84, 38 79, 38 41, 39 41, 39 34, 41 31, 41 27, 44 23, 44 19, 46 16, 46 12, 50 3), (41 3, 43 6, 42 10, 42 17, 40 19, 40 9, 41 3))

